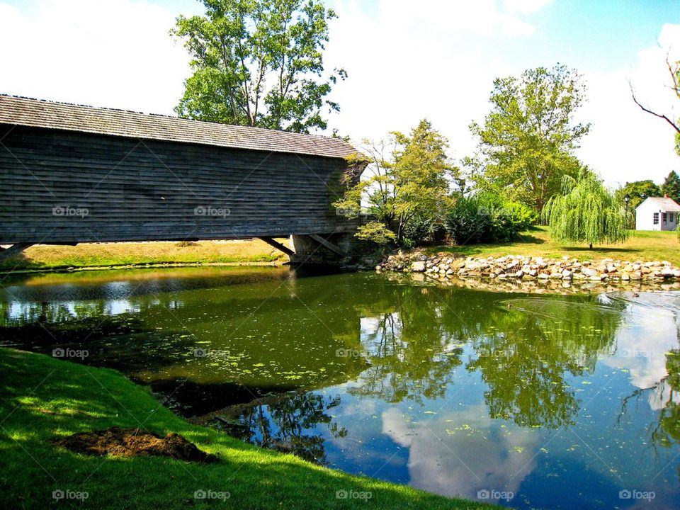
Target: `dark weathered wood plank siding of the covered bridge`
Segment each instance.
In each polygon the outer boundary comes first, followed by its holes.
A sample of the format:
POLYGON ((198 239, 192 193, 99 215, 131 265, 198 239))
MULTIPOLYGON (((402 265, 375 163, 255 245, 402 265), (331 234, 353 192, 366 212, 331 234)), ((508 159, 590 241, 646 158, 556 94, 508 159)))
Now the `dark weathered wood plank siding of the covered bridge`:
POLYGON ((0 243, 351 232, 341 158, 0 125, 0 243))

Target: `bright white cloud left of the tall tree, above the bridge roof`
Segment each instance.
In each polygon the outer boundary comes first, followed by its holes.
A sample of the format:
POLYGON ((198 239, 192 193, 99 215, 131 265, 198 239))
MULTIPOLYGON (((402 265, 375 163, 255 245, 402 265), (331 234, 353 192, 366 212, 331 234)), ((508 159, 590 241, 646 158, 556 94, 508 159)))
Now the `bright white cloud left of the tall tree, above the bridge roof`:
POLYGON ((188 57, 169 30, 176 13, 132 0, 0 3, 0 92, 172 113, 188 57))

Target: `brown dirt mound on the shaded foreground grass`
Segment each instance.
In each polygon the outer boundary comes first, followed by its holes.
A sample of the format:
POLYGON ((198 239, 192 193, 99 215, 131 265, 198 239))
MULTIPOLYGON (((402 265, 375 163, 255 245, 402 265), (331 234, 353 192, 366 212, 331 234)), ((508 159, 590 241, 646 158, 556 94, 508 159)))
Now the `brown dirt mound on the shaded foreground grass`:
POLYGON ((216 463, 219 459, 199 450, 195 444, 177 433, 164 438, 140 429, 111 427, 103 431, 77 433, 65 438, 52 439, 52 443, 77 453, 89 455, 159 455, 190 462, 216 463))

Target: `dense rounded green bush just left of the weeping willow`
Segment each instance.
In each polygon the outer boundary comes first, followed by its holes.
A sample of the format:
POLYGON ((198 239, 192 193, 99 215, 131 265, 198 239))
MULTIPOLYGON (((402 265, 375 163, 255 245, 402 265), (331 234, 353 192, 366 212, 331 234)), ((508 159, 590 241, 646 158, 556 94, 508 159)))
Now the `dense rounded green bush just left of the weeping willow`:
POLYGON ((445 220, 446 230, 456 244, 508 242, 538 220, 526 205, 479 193, 460 197, 445 220))

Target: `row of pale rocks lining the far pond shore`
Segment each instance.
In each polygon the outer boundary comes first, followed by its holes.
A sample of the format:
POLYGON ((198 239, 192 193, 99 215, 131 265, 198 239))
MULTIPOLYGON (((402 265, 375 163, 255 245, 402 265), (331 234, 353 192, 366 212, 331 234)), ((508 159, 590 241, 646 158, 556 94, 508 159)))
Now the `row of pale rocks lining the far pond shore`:
POLYGON ((630 281, 680 278, 680 268, 669 261, 579 261, 568 256, 550 259, 534 256, 454 258, 449 254, 427 256, 414 252, 390 255, 376 271, 424 273, 433 278, 486 277, 536 280, 630 281))

